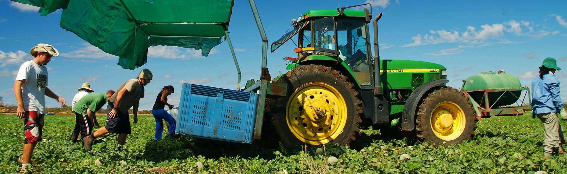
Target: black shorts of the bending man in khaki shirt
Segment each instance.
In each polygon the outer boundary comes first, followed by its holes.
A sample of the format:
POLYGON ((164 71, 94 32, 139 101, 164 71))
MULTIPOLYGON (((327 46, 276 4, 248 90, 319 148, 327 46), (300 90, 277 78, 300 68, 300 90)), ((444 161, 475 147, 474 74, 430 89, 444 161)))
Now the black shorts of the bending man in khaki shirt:
POLYGON ((110 118, 110 111, 114 108, 114 103, 108 102, 107 107, 107 125, 104 126, 110 133, 132 133, 132 128, 130 127, 130 116, 128 113, 124 114, 120 111, 116 112, 115 118, 110 118))

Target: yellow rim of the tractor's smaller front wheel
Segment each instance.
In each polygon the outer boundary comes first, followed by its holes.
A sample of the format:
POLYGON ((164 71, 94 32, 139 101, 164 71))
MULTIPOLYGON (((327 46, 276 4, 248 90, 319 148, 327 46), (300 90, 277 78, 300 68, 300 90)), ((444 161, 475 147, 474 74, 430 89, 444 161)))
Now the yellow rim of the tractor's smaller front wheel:
POLYGON ((459 105, 453 102, 441 102, 431 112, 431 129, 441 140, 451 141, 464 131, 466 117, 459 105))

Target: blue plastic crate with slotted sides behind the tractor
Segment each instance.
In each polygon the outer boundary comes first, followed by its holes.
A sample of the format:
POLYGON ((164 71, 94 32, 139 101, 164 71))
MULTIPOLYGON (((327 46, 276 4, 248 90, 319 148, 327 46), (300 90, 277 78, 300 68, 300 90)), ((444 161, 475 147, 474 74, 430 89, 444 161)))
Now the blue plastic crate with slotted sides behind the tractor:
POLYGON ((183 84, 176 134, 252 143, 258 94, 183 84))

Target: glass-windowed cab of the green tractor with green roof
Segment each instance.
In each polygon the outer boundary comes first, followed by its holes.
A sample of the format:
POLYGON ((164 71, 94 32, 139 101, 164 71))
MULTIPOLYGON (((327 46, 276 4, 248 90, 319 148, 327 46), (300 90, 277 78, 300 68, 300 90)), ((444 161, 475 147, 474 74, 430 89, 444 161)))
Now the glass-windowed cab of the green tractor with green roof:
POLYGON ((297 41, 297 58, 287 69, 310 60, 328 59, 344 63, 361 85, 370 85, 370 41, 368 24, 362 11, 310 10, 292 20, 293 30, 272 43, 273 52, 285 42, 297 41), (367 45, 368 43, 368 45, 367 45))

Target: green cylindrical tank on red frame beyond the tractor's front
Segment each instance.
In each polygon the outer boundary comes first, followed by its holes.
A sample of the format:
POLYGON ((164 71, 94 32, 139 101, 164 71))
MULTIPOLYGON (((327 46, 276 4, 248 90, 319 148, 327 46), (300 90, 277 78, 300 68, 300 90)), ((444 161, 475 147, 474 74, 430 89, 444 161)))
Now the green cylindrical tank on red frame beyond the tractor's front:
MULTIPOLYGON (((494 73, 494 72, 481 72, 476 75, 467 77, 463 81, 462 90, 484 90, 484 89, 506 89, 506 88, 520 88, 522 84, 517 77, 509 75, 506 73, 494 73)), ((483 99, 484 92, 469 92, 471 97, 475 99, 477 103, 481 106, 484 105, 483 99), (481 103, 482 102, 482 103, 481 103)), ((492 92, 488 94, 489 105, 492 108, 497 108, 500 106, 513 105, 518 101, 517 97, 520 97, 521 91, 514 92, 492 92), (504 93, 502 95, 502 93, 504 93), (515 95, 515 96, 514 96, 515 95), (502 96, 502 97, 500 97, 502 96), (498 99, 500 98, 500 99, 498 99)))

